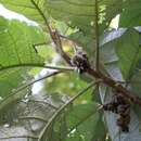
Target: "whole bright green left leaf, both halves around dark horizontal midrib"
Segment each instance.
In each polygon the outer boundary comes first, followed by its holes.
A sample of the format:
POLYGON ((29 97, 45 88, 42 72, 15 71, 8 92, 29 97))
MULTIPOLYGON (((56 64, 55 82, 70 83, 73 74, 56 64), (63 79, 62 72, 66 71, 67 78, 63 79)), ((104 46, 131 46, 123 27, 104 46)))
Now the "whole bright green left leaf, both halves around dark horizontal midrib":
POLYGON ((7 68, 43 65, 33 44, 44 41, 44 35, 37 26, 3 17, 0 27, 0 95, 5 97, 28 76, 27 68, 7 68))

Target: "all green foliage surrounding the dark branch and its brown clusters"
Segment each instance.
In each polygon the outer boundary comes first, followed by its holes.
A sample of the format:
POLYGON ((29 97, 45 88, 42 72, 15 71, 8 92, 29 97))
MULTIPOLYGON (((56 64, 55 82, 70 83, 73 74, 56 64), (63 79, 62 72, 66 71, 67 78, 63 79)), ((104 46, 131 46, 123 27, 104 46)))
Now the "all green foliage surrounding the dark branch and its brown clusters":
POLYGON ((35 26, 0 16, 0 140, 141 140, 140 107, 131 107, 128 133, 119 132, 115 114, 99 108, 100 103, 111 100, 114 94, 112 88, 102 82, 99 87, 87 87, 92 78, 86 74, 64 73, 64 69, 59 76, 49 78, 52 69, 37 70, 37 67, 51 64, 67 66, 55 53, 60 51, 54 48, 53 40, 49 37, 52 34, 50 26, 59 29, 62 47, 67 53, 74 53, 74 47, 82 47, 92 67, 97 62, 95 42, 99 41, 100 70, 140 97, 141 28, 136 26, 141 24, 141 2, 95 2, 0 0, 9 10, 37 23, 35 26), (99 5, 98 21, 95 2, 99 5), (111 29, 111 21, 118 14, 119 28, 111 29), (36 76, 37 79, 33 79, 33 75, 39 70, 38 78, 36 76), (44 79, 42 76, 48 79, 40 82, 42 89, 33 95, 31 85, 44 79), (81 94, 84 95, 79 98, 81 94))

